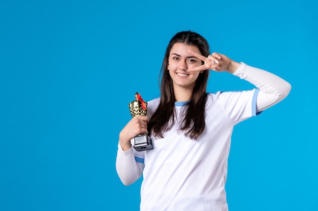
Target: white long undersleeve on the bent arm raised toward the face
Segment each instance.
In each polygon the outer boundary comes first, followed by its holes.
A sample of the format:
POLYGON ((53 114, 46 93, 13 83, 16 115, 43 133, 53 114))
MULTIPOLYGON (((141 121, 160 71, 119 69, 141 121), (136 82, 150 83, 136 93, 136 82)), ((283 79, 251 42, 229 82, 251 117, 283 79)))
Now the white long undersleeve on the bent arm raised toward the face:
POLYGON ((257 112, 263 111, 283 100, 289 94, 291 85, 268 71, 241 63, 233 75, 247 80, 260 92, 257 97, 257 112))

